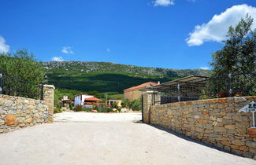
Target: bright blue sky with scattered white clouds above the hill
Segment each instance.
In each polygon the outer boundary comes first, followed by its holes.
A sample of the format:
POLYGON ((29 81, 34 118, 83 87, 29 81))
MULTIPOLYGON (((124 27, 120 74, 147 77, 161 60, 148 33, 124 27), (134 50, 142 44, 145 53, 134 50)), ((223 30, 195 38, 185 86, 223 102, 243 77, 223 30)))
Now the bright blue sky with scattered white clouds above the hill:
POLYGON ((0 4, 0 52, 27 48, 39 61, 207 68, 211 54, 223 46, 220 41, 229 25, 246 13, 256 22, 254 0, 2 0, 0 4))

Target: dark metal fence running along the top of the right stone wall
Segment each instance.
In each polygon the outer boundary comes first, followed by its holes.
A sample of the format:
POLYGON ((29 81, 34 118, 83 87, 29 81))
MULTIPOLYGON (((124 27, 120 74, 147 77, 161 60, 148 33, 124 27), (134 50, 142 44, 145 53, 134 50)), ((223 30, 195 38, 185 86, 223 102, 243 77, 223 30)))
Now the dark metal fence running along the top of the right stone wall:
POLYGON ((195 101, 199 99, 252 96, 256 94, 256 72, 221 77, 188 76, 164 85, 154 86, 154 104, 195 101), (192 79, 193 78, 193 79, 192 79), (156 95, 161 99, 156 99, 156 95))

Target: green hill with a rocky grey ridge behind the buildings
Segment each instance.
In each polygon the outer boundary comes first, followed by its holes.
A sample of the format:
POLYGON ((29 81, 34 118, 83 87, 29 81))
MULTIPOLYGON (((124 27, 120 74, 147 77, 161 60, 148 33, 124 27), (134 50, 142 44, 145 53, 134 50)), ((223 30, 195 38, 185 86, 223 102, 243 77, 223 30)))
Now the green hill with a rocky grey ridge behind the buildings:
POLYGON ((49 83, 61 89, 119 92, 141 83, 164 83, 186 75, 209 75, 201 69, 146 68, 108 62, 44 62, 49 83))

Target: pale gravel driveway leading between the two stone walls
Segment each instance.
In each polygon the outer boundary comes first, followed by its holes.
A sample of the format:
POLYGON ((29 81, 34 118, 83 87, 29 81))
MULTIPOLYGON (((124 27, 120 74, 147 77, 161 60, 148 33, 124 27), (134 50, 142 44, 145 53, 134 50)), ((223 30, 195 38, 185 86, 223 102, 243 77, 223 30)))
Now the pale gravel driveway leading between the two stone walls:
POLYGON ((132 123, 133 119, 122 123, 115 114, 96 116, 106 118, 94 123, 42 124, 0 134, 0 164, 256 164, 254 159, 132 123), (111 116, 115 122, 106 122, 111 116))

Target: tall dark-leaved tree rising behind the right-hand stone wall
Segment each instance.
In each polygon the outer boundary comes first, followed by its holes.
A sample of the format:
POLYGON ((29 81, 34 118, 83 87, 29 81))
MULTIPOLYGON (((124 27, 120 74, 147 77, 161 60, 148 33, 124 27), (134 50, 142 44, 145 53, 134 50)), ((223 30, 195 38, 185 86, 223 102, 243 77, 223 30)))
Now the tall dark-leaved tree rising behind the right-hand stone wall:
POLYGON ((255 71, 256 31, 251 30, 253 19, 247 14, 236 27, 229 27, 223 49, 213 53, 213 76, 255 71))

